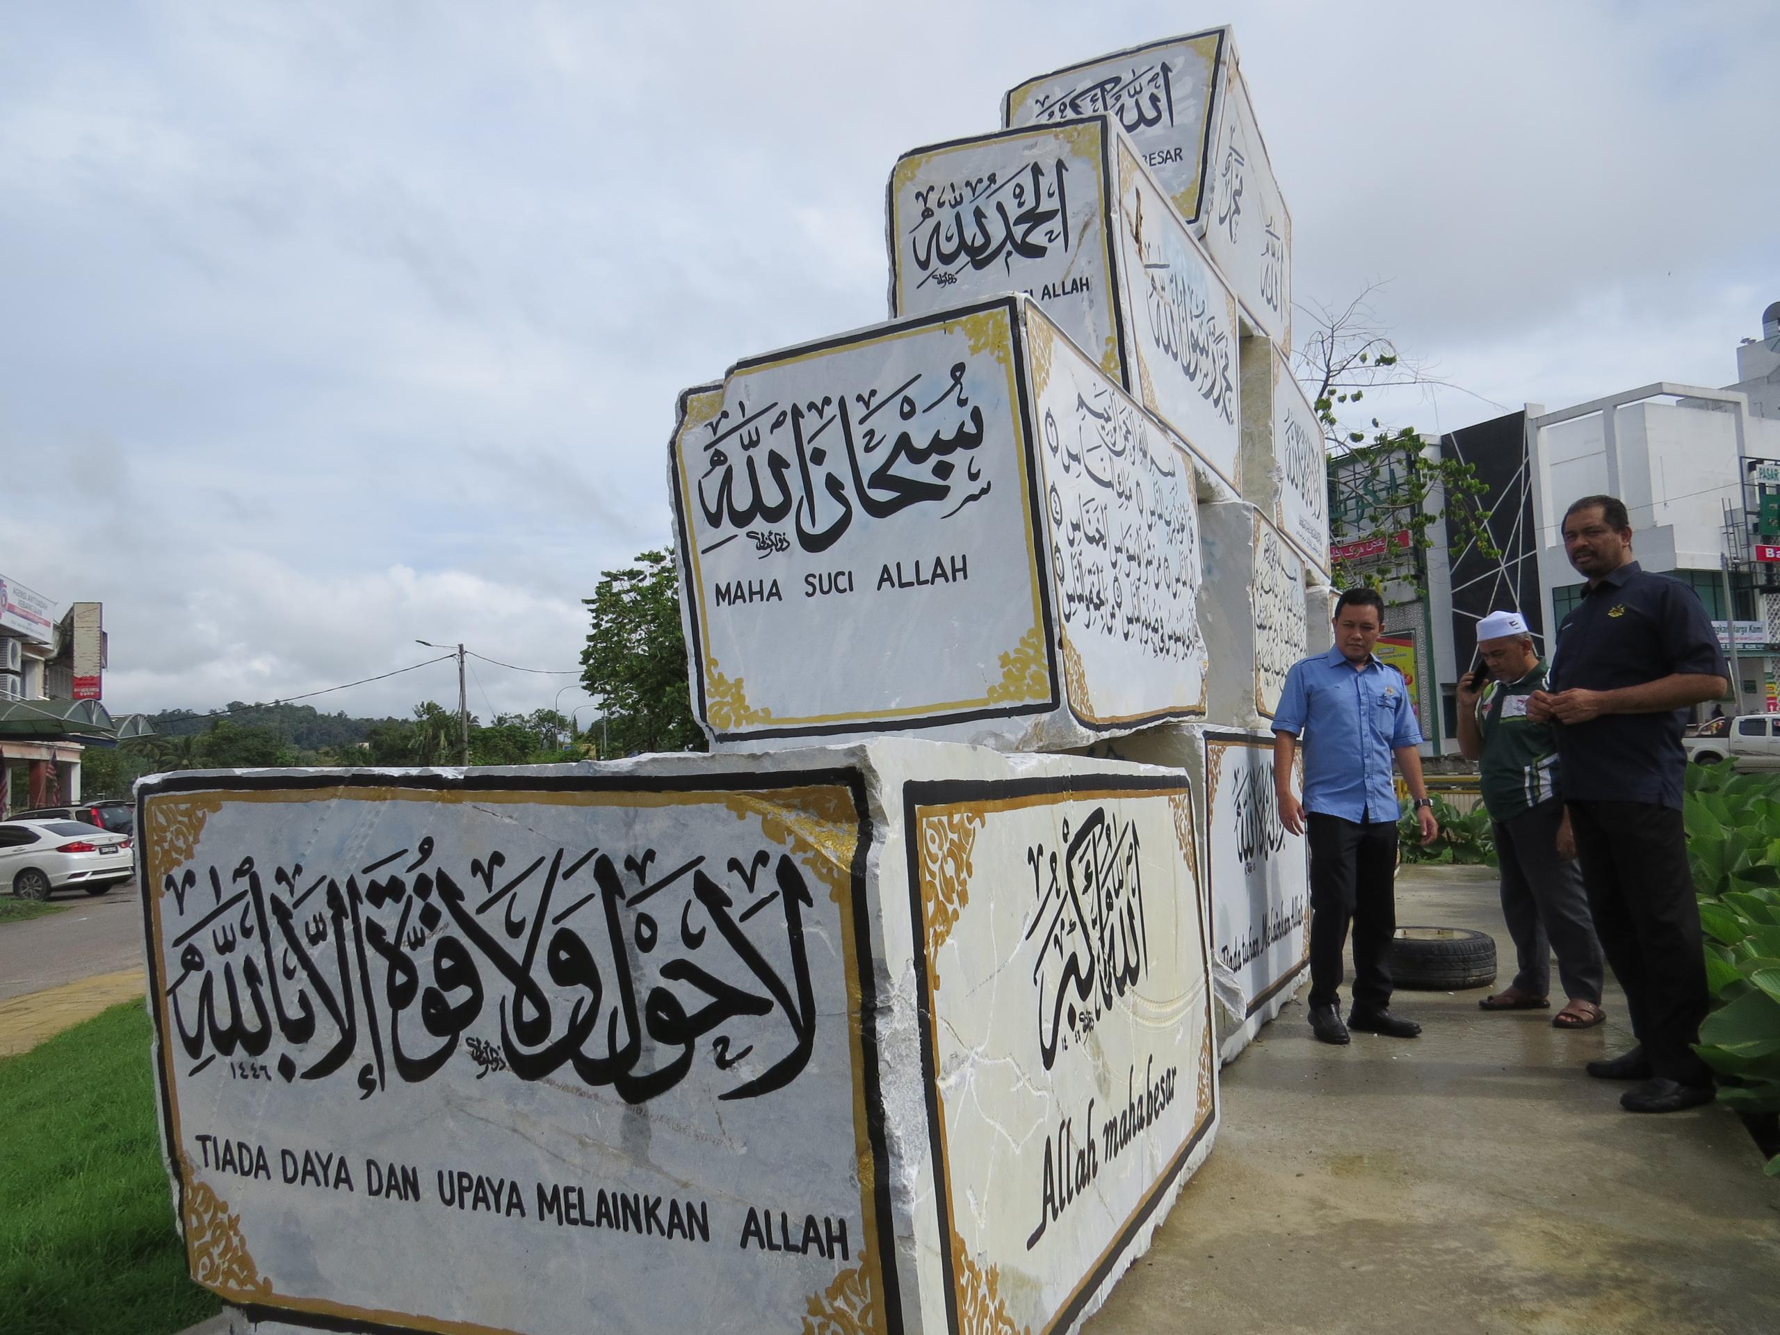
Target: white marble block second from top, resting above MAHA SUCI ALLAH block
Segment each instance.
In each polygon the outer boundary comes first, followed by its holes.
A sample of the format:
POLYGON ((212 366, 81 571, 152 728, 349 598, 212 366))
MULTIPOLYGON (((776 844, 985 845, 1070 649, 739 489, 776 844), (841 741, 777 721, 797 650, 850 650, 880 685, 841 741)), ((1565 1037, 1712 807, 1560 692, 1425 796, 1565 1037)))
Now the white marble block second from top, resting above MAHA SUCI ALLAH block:
POLYGON ((1235 297, 1112 119, 918 148, 886 212, 894 315, 1025 292, 1235 495, 1235 297))

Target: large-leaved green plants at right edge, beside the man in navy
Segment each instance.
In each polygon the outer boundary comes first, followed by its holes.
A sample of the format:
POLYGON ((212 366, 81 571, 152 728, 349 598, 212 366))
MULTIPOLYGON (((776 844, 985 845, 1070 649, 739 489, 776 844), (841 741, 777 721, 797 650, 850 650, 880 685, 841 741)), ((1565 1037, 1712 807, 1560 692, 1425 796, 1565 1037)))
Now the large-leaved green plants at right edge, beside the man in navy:
MULTIPOLYGON (((1780 776, 1687 765, 1687 860, 1705 929, 1714 1009, 1700 1056, 1721 1077, 1721 1104, 1780 1112, 1780 776)), ((1780 1177, 1780 1155, 1768 1161, 1780 1177)))

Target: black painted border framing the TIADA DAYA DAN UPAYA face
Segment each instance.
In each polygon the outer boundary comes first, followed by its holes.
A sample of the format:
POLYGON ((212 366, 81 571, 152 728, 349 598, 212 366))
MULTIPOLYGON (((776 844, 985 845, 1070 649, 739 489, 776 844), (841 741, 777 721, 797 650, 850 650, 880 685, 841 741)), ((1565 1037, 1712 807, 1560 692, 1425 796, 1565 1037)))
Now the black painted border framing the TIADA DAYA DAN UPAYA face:
MULTIPOLYGON (((263 790, 317 790, 349 787, 384 787, 413 789, 434 792, 764 792, 771 789, 803 787, 844 787, 853 796, 853 812, 858 819, 858 842, 854 844, 851 867, 853 892, 853 945, 856 954, 856 977, 860 984, 860 1075, 865 1095, 865 1137, 872 1153, 872 1212, 878 1218, 878 1271, 883 1283, 885 1330, 888 1335, 902 1335, 902 1292, 897 1273, 895 1218, 890 1209, 890 1148, 886 1136, 886 1116, 883 1104, 883 1084, 879 1079, 878 1048, 878 977, 876 954, 872 952, 872 917, 867 895, 867 862, 872 851, 874 826, 870 805, 865 796, 865 776, 856 769, 787 769, 765 773, 730 773, 730 774, 443 774, 443 773, 406 773, 347 769, 333 774, 279 774, 262 771, 253 774, 178 774, 173 778, 139 783, 135 790, 135 828, 139 831, 137 849, 141 851, 141 874, 137 885, 142 902, 142 933, 148 949, 148 995, 157 999, 150 1016, 155 1025, 155 1041, 160 1061, 155 1070, 155 1093, 162 1107, 162 1145, 174 1184, 174 1212, 180 1219, 182 1246, 185 1242, 185 1175, 180 1169, 180 1146, 173 1141, 173 1063, 169 1061, 167 1034, 160 1022, 160 954, 155 949, 153 886, 148 885, 148 853, 141 835, 148 831, 144 822, 148 797, 178 792, 263 792, 263 790)), ((212 1290, 215 1292, 215 1290, 212 1290)), ((231 1303, 228 1294, 219 1294, 231 1303)), ((322 1299, 328 1301, 328 1299, 322 1299)), ((281 1321, 290 1326, 328 1331, 376 1331, 377 1335, 402 1335, 404 1331, 441 1330, 436 1324, 392 1326, 363 1317, 336 1317, 319 1312, 301 1312, 294 1308, 263 1303, 231 1303, 253 1321, 281 1321)), ((342 1303, 344 1307, 344 1303, 342 1303)), ((417 1317, 422 1323, 436 1323, 438 1317, 417 1317)), ((449 1323, 447 1323, 449 1324, 449 1323)))

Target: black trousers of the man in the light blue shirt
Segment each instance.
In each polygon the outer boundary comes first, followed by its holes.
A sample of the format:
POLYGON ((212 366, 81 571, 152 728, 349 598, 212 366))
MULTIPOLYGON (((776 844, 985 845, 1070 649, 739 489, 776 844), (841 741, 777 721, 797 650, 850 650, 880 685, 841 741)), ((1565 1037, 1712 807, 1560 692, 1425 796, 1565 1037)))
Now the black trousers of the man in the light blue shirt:
POLYGON ((1342 947, 1353 926, 1353 1004, 1390 1004, 1387 951, 1397 933, 1397 824, 1310 812, 1310 1004, 1340 1002, 1342 947))

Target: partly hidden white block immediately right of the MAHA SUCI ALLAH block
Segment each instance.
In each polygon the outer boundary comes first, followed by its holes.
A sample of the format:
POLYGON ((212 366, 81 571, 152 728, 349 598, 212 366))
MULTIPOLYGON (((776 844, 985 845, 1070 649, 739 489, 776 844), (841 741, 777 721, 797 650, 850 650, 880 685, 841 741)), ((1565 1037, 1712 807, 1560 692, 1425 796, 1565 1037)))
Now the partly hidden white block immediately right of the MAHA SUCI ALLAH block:
POLYGON ((1207 717, 1266 730, 1285 673, 1307 651, 1305 562, 1267 516, 1242 500, 1202 506, 1200 532, 1200 619, 1210 646, 1207 717))

